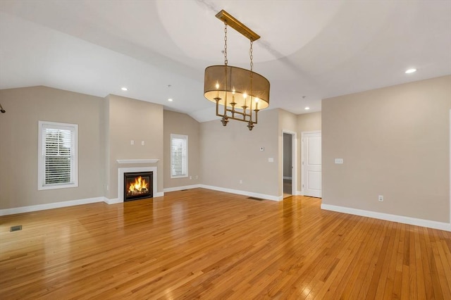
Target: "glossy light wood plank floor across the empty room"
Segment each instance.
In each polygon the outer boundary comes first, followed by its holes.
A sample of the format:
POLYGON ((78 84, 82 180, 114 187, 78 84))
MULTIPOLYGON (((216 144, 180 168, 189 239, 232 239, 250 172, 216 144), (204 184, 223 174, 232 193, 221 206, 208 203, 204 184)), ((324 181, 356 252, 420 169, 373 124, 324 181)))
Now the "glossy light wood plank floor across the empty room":
POLYGON ((191 189, 0 217, 0 299, 451 299, 451 232, 320 204, 191 189))

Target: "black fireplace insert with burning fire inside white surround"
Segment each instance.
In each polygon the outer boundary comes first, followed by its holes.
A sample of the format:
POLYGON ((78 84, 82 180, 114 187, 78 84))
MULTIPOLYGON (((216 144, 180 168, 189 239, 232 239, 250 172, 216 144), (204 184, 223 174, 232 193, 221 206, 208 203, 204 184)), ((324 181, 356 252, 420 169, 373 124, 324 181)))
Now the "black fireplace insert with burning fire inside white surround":
POLYGON ((153 177, 152 171, 124 173, 124 201, 152 198, 153 177))

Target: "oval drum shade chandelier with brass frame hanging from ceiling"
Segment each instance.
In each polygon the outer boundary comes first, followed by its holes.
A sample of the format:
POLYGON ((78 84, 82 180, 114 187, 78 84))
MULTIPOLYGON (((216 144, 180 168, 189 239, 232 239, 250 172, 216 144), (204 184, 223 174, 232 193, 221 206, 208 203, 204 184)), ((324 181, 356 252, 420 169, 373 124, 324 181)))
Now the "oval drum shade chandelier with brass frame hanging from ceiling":
POLYGON ((249 130, 252 130, 257 124, 259 111, 269 106, 269 81, 252 70, 252 43, 260 36, 224 10, 217 13, 216 18, 224 22, 224 65, 210 65, 205 69, 204 96, 216 102, 216 115, 222 117, 223 126, 229 120, 239 120, 246 122, 249 130), (228 65, 229 25, 250 41, 250 70, 228 65))

